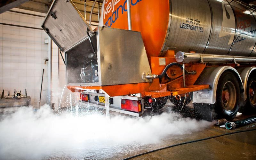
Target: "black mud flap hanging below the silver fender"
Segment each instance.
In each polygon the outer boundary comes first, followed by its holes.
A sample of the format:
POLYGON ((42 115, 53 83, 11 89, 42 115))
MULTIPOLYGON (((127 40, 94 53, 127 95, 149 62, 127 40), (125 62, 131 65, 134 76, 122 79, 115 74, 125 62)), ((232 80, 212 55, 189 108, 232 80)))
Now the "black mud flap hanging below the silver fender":
POLYGON ((213 104, 193 103, 196 119, 203 119, 212 122, 213 104))

